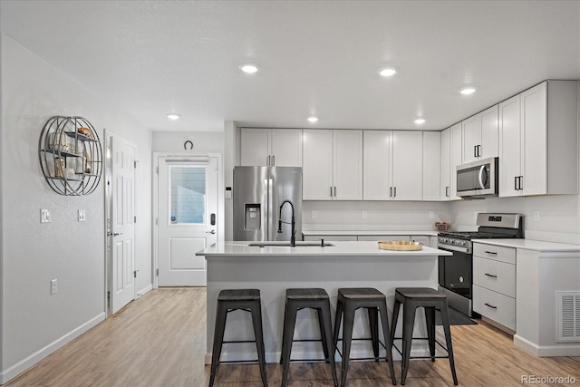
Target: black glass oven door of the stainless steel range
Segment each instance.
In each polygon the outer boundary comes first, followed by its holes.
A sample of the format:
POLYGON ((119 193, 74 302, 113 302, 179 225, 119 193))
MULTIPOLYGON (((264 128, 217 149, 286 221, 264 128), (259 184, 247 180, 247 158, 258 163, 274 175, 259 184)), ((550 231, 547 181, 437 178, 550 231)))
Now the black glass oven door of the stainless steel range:
POLYGON ((439 257, 439 285, 457 295, 471 299, 473 256, 445 247, 438 248, 453 253, 453 256, 439 257))

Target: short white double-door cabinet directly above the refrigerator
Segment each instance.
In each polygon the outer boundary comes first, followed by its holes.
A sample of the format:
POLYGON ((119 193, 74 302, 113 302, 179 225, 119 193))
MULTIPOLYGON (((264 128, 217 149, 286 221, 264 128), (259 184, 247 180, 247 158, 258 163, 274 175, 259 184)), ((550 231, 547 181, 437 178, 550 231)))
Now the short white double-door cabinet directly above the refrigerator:
POLYGON ((242 128, 240 165, 302 167, 302 130, 242 128))

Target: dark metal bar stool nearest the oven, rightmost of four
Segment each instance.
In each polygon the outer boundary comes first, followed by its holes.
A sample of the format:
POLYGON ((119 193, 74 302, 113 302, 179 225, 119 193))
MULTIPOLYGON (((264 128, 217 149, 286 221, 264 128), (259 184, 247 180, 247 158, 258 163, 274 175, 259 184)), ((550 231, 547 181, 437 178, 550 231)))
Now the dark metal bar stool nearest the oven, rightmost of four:
POLYGON ((431 359, 449 358, 453 384, 457 385, 457 374, 455 373, 455 361, 453 360, 453 345, 451 344, 451 331, 449 329, 449 313, 447 309, 447 296, 430 287, 397 287, 395 289, 395 305, 392 311, 391 343, 401 353, 401 384, 405 384, 407 371, 409 371, 410 359, 431 359), (402 337, 395 337, 395 328, 399 318, 399 309, 403 305, 402 317, 402 337), (413 327, 415 325, 415 310, 422 306, 425 309, 425 320, 427 322, 427 338, 415 338, 415 340, 428 340, 430 356, 412 356, 411 342, 413 340, 413 327), (435 309, 441 312, 441 322, 445 332, 447 347, 444 347, 435 338, 435 309), (402 352, 394 345, 395 339, 402 339, 402 352), (447 352, 447 356, 435 356, 435 344, 440 345, 447 352))

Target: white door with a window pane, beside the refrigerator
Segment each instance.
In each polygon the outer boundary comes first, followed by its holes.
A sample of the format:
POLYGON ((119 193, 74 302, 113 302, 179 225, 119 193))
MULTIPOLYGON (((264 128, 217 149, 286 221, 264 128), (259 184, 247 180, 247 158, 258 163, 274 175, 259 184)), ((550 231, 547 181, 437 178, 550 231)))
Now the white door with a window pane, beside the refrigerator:
POLYGON ((196 253, 218 233, 218 159, 159 158, 160 286, 205 286, 206 259, 196 253))

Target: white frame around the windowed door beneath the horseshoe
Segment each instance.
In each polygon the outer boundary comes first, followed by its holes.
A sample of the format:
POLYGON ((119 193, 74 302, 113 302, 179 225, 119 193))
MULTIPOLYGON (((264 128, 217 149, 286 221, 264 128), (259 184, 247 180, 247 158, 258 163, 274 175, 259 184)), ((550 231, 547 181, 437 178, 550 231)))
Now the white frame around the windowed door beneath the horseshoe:
POLYGON ((183 159, 183 160, 187 160, 187 159, 191 159, 196 160, 199 158, 216 158, 217 159, 217 164, 218 164, 218 214, 217 214, 217 220, 218 220, 218 227, 217 227, 217 233, 218 235, 217 237, 217 241, 218 242, 223 242, 224 241, 224 236, 226 235, 226 225, 225 225, 225 205, 224 205, 224 170, 223 170, 223 161, 222 161, 222 155, 221 153, 207 153, 207 154, 202 154, 202 155, 192 155, 189 152, 153 152, 153 170, 152 170, 152 204, 153 204, 153 217, 151 219, 152 221, 152 229, 153 229, 153 237, 152 237, 152 258, 153 258, 153 262, 151 267, 153 268, 153 270, 151 270, 151 283, 153 284, 153 289, 157 289, 159 288, 159 267, 160 267, 160 262, 159 262, 159 189, 160 189, 160 175, 159 175, 159 169, 160 169, 160 158, 179 158, 179 159, 183 159))

